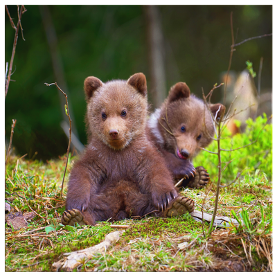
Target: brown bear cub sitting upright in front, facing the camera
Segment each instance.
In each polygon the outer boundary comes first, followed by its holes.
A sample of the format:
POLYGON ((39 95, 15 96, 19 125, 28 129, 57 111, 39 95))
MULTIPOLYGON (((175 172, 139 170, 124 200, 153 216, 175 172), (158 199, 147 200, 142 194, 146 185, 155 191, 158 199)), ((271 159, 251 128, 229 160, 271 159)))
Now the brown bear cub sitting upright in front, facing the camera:
POLYGON ((193 200, 178 195, 166 162, 146 136, 145 75, 106 83, 88 77, 84 91, 89 144, 71 170, 62 224, 192 212, 193 200))

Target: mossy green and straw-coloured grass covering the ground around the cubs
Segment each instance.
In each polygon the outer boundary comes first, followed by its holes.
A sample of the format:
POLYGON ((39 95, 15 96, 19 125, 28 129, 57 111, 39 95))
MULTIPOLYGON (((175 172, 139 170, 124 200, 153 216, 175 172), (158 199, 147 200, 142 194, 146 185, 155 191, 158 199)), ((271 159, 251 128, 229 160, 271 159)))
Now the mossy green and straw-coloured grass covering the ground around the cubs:
MULTIPOLYGON (((75 159, 69 159, 65 184, 75 159)), ((15 230, 3 225, 6 228, 3 240, 6 273, 51 271, 51 265, 62 259, 63 253, 96 245, 107 233, 115 231, 111 222, 77 227, 60 224, 65 197, 59 199, 58 195, 64 164, 65 157, 47 163, 10 157, 6 168, 6 191, 12 195, 4 195, 6 202, 10 203, 12 213, 33 211, 36 215, 28 220, 24 229, 15 230)), ((201 211, 203 207, 206 213, 212 213, 214 207, 216 184, 213 173, 211 180, 203 190, 186 188, 181 191, 195 200, 197 210, 201 211)), ((97 253, 91 260, 82 260, 82 265, 73 273, 219 273, 222 270, 269 273, 274 270, 271 261, 274 181, 271 180, 274 180, 271 171, 265 173, 260 168, 253 168, 244 172, 232 186, 223 188, 217 215, 231 216, 240 224, 229 229, 215 229, 207 238, 204 234, 208 224, 202 226, 190 215, 147 216, 140 220, 113 222, 127 224, 129 229, 105 252, 97 253)))

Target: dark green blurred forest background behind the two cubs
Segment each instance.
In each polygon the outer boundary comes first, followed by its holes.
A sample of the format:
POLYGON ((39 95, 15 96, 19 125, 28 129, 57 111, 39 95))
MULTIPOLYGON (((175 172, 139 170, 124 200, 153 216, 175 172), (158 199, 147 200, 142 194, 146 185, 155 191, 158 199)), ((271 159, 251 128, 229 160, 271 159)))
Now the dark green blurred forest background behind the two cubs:
MULTIPOLYGON (((7 6, 17 24, 16 4, 7 6)), ((151 73, 150 24, 153 22, 149 9, 153 7, 79 3, 25 3, 24 6, 27 11, 21 25, 25 41, 19 31, 11 77, 14 81, 10 82, 4 115, 6 145, 12 118, 17 119, 13 152, 20 156, 28 153, 29 159, 46 160, 67 150, 68 139, 60 125, 66 120, 64 96, 55 86, 46 87, 44 82, 57 81, 69 96, 74 131, 84 145, 87 136, 83 82, 87 76, 94 75, 106 82, 127 80, 130 75, 143 72, 148 80, 148 98, 153 102, 157 88, 151 73)), ((165 78, 162 82, 166 91, 181 81, 199 97, 202 97, 202 87, 208 93, 213 84, 222 81, 222 73, 228 69, 231 12, 238 43, 273 33, 273 9, 267 4, 154 7, 162 34, 162 43, 157 47, 163 58, 165 78)), ((10 62, 14 35, 15 30, 3 8, 3 69, 6 62, 10 62)), ((271 90, 273 43, 274 36, 237 46, 231 70, 243 71, 245 62, 250 60, 258 73, 260 57, 263 57, 261 91, 271 90)), ((257 78, 254 81, 257 85, 257 78)), ((212 102, 222 102, 222 90, 213 93, 212 102)))

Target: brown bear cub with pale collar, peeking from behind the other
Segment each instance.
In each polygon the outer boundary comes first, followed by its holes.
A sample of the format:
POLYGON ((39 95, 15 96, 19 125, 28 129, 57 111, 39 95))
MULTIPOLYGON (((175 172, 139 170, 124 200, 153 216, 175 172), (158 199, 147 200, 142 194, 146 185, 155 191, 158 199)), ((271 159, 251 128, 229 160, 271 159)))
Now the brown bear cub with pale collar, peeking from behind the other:
POLYGON ((194 169, 190 161, 212 141, 215 127, 211 116, 219 119, 224 115, 224 105, 209 107, 211 114, 203 100, 190 94, 186 83, 178 82, 148 120, 148 137, 165 157, 175 180, 186 178, 179 186, 202 188, 208 183, 206 170, 202 166, 194 169))

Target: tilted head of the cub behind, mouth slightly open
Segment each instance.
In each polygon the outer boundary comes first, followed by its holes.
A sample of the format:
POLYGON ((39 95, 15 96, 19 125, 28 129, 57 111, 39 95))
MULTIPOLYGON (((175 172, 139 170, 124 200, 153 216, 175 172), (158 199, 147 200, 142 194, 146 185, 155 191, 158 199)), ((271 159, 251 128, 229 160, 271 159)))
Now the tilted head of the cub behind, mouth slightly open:
POLYGON ((209 105, 209 108, 211 113, 203 100, 190 94, 185 82, 171 87, 168 98, 161 106, 161 124, 158 124, 165 148, 179 159, 192 159, 200 148, 211 143, 215 134, 213 118, 219 120, 224 115, 225 107, 215 104, 209 105))

